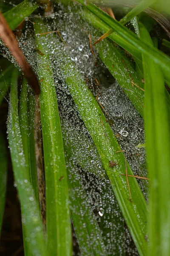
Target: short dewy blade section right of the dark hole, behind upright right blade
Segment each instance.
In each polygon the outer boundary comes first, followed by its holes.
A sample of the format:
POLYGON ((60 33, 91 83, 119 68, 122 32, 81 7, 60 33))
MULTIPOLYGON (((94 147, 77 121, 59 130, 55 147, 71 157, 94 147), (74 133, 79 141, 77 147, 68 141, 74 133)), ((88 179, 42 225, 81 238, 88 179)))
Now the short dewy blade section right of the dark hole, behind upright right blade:
POLYGON ((114 46, 108 39, 96 44, 99 57, 105 63, 113 77, 123 88, 125 94, 133 103, 137 111, 143 116, 144 84, 130 64, 125 53, 114 46))

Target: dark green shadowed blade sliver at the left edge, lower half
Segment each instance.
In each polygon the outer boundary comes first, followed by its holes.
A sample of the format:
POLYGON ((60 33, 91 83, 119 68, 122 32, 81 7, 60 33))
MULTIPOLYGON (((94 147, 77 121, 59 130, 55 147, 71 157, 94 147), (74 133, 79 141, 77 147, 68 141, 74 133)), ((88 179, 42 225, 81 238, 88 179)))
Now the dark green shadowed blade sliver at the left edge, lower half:
POLYGON ((3 223, 3 212, 6 201, 7 184, 7 150, 3 134, 0 131, 0 232, 3 223))

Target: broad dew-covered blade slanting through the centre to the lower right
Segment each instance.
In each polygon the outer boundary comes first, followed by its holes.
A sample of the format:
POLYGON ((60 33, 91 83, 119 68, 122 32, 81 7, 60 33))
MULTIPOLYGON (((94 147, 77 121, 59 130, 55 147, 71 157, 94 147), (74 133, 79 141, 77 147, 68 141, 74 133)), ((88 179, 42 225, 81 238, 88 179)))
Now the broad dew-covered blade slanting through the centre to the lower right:
MULTIPOLYGON (((61 47, 59 49, 63 58, 65 56, 65 49, 61 50, 61 47)), ((121 150, 116 138, 106 122, 106 118, 96 99, 82 80, 78 71, 73 67, 71 60, 66 57, 60 68, 62 68, 65 74, 65 81, 71 96, 75 104, 77 104, 82 120, 99 152, 103 167, 111 181, 113 191, 133 241, 140 255, 146 255, 147 241, 144 237, 146 236, 147 205, 142 191, 136 180, 129 179, 130 193, 127 179, 121 174, 125 174, 126 170, 129 175, 133 175, 133 172, 128 163, 126 163, 123 153, 115 153, 121 150), (114 165, 111 165, 111 163, 118 163, 119 165, 113 167, 114 165)))

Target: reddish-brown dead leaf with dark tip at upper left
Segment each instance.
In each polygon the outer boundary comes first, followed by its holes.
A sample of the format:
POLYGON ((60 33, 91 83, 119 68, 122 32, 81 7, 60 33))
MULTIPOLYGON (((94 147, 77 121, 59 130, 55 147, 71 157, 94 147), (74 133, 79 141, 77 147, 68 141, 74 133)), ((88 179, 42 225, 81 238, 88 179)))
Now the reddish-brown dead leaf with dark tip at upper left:
POLYGON ((8 47, 8 49, 11 51, 12 55, 20 64, 24 75, 26 76, 26 79, 28 81, 28 84, 31 85, 31 87, 34 89, 36 94, 40 94, 40 86, 37 79, 37 76, 31 69, 30 65, 26 61, 26 58, 23 55, 23 52, 21 51, 19 44, 17 42, 17 39, 8 26, 8 23, 6 22, 5 18, 3 17, 3 14, 0 12, 0 38, 3 40, 4 44, 8 47))

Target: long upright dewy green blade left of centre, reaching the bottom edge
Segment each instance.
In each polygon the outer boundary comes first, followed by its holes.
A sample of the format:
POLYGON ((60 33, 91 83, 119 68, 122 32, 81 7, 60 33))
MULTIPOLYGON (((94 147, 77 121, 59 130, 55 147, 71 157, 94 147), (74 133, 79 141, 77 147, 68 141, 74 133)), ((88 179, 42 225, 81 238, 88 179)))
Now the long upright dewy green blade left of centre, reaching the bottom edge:
MULTIPOLYGON (((35 23, 36 34, 48 31, 42 21, 36 20, 35 23)), ((36 37, 37 47, 42 53, 48 49, 46 42, 45 37, 36 37)), ((71 223, 68 183, 57 95, 51 61, 48 55, 37 54, 38 74, 39 79, 42 79, 40 110, 45 160, 47 247, 50 255, 70 256, 71 223)))

